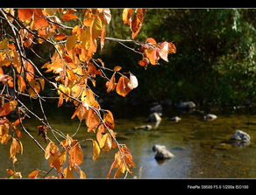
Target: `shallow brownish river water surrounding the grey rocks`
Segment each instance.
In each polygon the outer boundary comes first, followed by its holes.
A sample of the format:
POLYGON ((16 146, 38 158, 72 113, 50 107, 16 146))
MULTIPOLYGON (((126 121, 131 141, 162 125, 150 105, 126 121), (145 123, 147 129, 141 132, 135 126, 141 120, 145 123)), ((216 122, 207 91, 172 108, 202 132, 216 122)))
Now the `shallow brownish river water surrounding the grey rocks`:
MULTIPOLYGON (((60 129, 64 134, 73 135, 79 125, 78 120, 70 120, 73 108, 48 109, 49 122, 54 129, 60 129), (71 109, 71 111, 70 111, 71 109)), ((119 110, 120 112, 120 110, 119 110)), ((132 150, 136 164, 133 175, 137 178, 256 178, 256 115, 217 115, 217 120, 204 122, 202 115, 179 115, 181 122, 171 122, 173 115, 162 116, 158 129, 133 129, 145 122, 149 113, 147 110, 128 110, 122 113, 113 111, 116 117, 117 141, 125 143, 132 150), (251 136, 251 143, 238 147, 226 142, 236 129, 245 131, 251 136), (153 144, 165 145, 174 157, 166 161, 154 159, 153 144)), ((39 143, 46 147, 44 140, 37 135, 39 122, 26 120, 26 127, 39 143)), ((153 125, 153 124, 151 124, 153 125)), ((49 135, 50 136, 50 135, 49 135)), ((81 129, 74 139, 82 141, 84 162, 82 170, 88 178, 105 178, 110 164, 114 159, 116 149, 101 152, 96 162, 92 161, 92 143, 87 138, 95 138, 94 133, 87 133, 82 122, 81 129)), ((18 154, 16 171, 21 171, 24 178, 35 170, 48 171, 48 163, 42 151, 32 140, 23 134, 24 154, 18 154)), ((6 177, 5 170, 11 169, 9 159, 10 144, 0 146, 0 177, 6 177)), ((132 178, 128 175, 128 178, 132 178)))

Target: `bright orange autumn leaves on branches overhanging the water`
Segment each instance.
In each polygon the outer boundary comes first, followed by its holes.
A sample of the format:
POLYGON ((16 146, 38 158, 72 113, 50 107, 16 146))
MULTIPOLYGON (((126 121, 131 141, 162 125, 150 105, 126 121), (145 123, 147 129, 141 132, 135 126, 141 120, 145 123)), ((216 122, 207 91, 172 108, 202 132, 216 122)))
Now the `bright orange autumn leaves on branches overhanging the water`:
MULTIPOLYGON (((143 43, 134 40, 141 29, 146 9, 124 9, 123 22, 131 26, 131 40, 106 37, 106 29, 111 20, 110 9, 0 9, 0 11, 4 24, 9 28, 8 32, 2 34, 0 41, 0 81, 3 84, 1 92, 3 103, 0 108, 0 117, 3 119, 1 119, 0 138, 1 143, 4 144, 12 138, 10 153, 13 164, 17 161, 16 154, 23 152, 20 141, 21 131, 17 128, 21 124, 23 131, 43 151, 51 169, 58 174, 58 177, 47 176, 48 173, 42 176, 43 172, 36 170, 32 171, 28 178, 75 178, 75 171, 80 178, 86 178, 80 167, 83 162, 81 141, 75 140, 75 135, 65 136, 60 130, 51 127, 47 121, 41 102, 46 101, 47 97, 40 95, 47 82, 57 92, 56 94, 59 94, 56 97, 59 99, 58 107, 60 108, 64 101, 73 102, 75 112, 71 119, 77 116, 80 122, 85 122, 89 133, 96 134, 95 139, 88 139, 92 141, 94 161, 101 151, 117 149, 107 178, 110 178, 113 168, 117 169, 114 178, 125 171, 132 174, 132 167, 135 167, 132 153, 125 144, 117 142, 114 116, 110 110, 101 108, 93 87, 96 87, 96 79, 102 77, 106 80, 107 93, 116 90, 117 94, 126 96, 133 88, 138 87, 139 83, 131 72, 121 73, 122 66, 110 69, 104 65, 103 59, 95 59, 94 56, 98 45, 100 50, 103 50, 104 41, 109 40, 140 45, 139 53, 143 57, 139 61, 140 66, 157 65, 160 58, 167 61, 167 54, 176 51, 173 43, 157 44, 153 38, 146 38, 146 42, 143 43), (68 21, 77 23, 75 26, 68 26, 68 21), (53 46, 54 51, 51 59, 39 68, 28 58, 27 51, 34 52, 33 45, 43 43, 53 46), (41 68, 45 73, 41 73, 41 68), (106 71, 112 73, 110 78, 107 77, 106 71), (53 79, 46 78, 46 73, 53 73, 53 79), (39 101, 43 119, 25 106, 25 102, 21 100, 23 96, 39 101), (10 122, 6 118, 11 111, 16 111, 18 121, 10 122), (48 142, 46 149, 25 129, 22 121, 30 115, 42 123, 37 129, 39 136, 42 136, 46 143, 48 142), (10 135, 10 131, 16 134, 10 135), (55 142, 48 136, 48 131, 52 133, 55 142), (64 168, 66 163, 67 166, 64 168)), ((37 53, 35 54, 39 57, 37 53)), ((12 170, 7 172, 11 177, 21 178, 19 172, 12 170)))

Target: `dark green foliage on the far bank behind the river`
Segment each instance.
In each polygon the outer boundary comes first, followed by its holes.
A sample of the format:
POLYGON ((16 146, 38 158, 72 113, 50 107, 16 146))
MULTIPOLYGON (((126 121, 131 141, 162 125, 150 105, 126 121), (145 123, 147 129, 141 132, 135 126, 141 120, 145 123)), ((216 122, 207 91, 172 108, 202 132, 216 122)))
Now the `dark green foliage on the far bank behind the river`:
MULTIPOLYGON (((120 11, 112 14, 121 19, 120 11)), ((130 96, 144 102, 170 98, 234 105, 254 101, 255 15, 252 9, 149 9, 138 39, 147 35, 157 41, 174 40, 177 52, 169 62, 161 60, 160 66, 139 73, 143 67, 134 64, 134 53, 120 52, 123 45, 118 44, 111 45, 105 60, 138 72, 139 90, 130 96), (113 59, 112 53, 118 58, 113 59), (152 77, 155 80, 147 80, 152 77)), ((127 26, 115 28, 117 38, 129 38, 127 26)))

